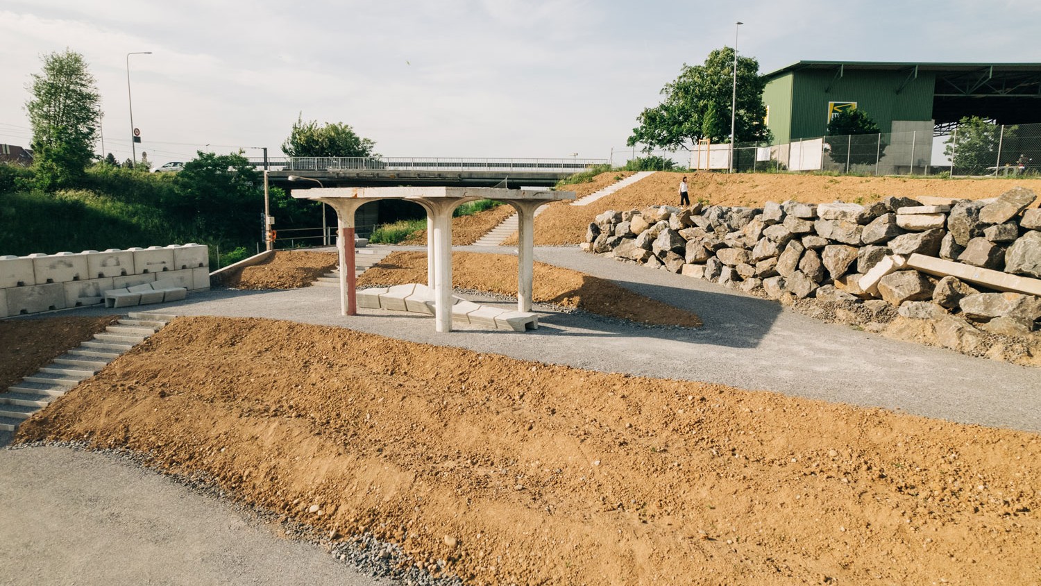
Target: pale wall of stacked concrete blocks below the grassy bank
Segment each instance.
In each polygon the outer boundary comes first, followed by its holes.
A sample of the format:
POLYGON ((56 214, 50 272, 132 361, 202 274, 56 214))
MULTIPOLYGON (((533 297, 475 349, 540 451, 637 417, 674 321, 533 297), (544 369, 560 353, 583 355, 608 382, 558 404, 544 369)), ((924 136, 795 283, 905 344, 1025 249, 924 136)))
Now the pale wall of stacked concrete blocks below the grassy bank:
POLYGON ((155 281, 160 273, 188 290, 209 288, 209 248, 0 256, 0 317, 104 303, 105 291, 155 281))

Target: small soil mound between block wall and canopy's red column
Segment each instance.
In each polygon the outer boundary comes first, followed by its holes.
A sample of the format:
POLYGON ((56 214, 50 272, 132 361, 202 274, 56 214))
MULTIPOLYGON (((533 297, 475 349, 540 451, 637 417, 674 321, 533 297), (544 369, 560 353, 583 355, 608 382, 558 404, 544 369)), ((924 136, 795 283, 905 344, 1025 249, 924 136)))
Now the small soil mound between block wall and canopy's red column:
POLYGON ((233 289, 299 289, 310 286, 337 264, 335 252, 278 251, 259 264, 229 275, 224 284, 233 289))

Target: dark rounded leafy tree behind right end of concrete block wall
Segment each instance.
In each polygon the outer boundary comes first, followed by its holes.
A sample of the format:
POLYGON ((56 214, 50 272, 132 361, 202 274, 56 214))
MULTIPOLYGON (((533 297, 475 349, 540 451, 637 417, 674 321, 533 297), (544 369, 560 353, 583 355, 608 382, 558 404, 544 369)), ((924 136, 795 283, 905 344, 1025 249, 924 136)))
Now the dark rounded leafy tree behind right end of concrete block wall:
POLYGON ((242 154, 199 151, 174 178, 170 211, 194 225, 198 237, 235 244, 258 239, 263 179, 242 154))

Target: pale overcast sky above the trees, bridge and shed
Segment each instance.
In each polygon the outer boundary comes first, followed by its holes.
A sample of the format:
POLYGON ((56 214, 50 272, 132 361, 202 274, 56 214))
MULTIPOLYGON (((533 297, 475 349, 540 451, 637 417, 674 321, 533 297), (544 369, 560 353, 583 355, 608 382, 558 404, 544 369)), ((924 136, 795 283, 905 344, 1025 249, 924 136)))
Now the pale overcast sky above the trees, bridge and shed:
MULTIPOLYGON (((0 143, 28 147, 41 55, 81 53, 104 150, 272 156, 298 114, 388 156, 608 158, 684 62, 734 45, 798 60, 1041 62, 1041 3, 980 0, 4 0, 0 143), (206 147, 209 145, 209 147, 206 147)), ((99 151, 100 146, 99 146, 99 151)))

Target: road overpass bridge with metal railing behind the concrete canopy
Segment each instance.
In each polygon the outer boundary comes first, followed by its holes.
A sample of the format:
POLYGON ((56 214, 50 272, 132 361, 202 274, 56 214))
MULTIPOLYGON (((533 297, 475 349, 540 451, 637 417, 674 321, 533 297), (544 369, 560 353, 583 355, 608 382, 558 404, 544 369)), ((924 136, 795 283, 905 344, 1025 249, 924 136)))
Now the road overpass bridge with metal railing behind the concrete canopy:
MULTIPOLYGON (((263 168, 263 159, 250 159, 263 168)), ((273 157, 268 179, 283 188, 306 188, 316 179, 326 187, 457 186, 550 187, 607 159, 590 158, 442 158, 442 157, 273 157)))

